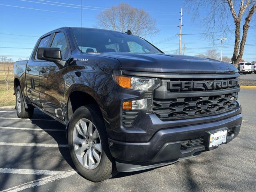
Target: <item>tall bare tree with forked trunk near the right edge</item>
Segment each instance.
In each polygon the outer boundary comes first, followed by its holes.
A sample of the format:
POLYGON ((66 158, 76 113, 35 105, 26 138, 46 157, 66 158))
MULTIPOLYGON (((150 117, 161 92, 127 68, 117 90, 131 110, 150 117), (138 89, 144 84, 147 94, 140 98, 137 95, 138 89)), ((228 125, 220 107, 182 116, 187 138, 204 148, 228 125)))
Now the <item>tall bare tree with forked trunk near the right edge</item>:
POLYGON ((256 9, 256 0, 187 0, 187 2, 194 19, 200 16, 200 10, 206 12, 206 16, 202 18, 202 25, 206 27, 205 38, 211 37, 214 41, 216 34, 226 37, 235 32, 232 64, 237 67, 244 53, 249 24, 256 9), (240 39, 241 24, 242 39, 240 39))

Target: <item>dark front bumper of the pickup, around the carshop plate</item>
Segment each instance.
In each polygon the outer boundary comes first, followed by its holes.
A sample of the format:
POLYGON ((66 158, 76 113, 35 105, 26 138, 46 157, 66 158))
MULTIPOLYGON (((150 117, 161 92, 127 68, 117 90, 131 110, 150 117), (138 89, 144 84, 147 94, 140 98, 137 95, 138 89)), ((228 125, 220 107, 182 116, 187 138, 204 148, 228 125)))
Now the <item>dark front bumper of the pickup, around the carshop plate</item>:
MULTIPOLYGON (((242 123, 241 113, 214 122, 158 130, 148 142, 122 142, 109 139, 110 152, 118 171, 137 171, 193 157, 208 148, 208 132, 228 129, 227 143, 234 139, 242 123), (190 147, 184 147, 189 142, 190 147)), ((217 147, 215 147, 217 148, 217 147)))

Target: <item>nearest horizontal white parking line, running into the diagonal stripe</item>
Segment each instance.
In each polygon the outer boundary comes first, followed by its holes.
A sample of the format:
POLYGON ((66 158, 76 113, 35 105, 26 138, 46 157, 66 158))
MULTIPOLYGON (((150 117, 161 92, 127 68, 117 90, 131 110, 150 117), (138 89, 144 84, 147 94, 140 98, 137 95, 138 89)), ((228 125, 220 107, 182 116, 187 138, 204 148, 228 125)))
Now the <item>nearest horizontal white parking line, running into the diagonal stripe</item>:
POLYGON ((24 175, 57 175, 57 174, 62 174, 64 172, 65 171, 0 168, 0 173, 12 173, 12 174, 24 174, 24 175))

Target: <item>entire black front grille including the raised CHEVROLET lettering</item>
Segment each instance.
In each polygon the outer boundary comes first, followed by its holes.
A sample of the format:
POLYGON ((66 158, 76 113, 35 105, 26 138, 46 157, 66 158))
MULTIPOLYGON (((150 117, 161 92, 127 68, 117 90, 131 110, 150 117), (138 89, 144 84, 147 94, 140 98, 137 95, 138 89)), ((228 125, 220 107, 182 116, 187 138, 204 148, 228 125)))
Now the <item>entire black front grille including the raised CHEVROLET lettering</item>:
POLYGON ((228 112, 236 107, 237 80, 237 77, 162 79, 154 94, 152 110, 163 121, 228 112), (168 82, 172 82, 171 86, 168 82), (198 82, 196 86, 194 82, 198 82), (216 82, 219 86, 214 87, 216 82))

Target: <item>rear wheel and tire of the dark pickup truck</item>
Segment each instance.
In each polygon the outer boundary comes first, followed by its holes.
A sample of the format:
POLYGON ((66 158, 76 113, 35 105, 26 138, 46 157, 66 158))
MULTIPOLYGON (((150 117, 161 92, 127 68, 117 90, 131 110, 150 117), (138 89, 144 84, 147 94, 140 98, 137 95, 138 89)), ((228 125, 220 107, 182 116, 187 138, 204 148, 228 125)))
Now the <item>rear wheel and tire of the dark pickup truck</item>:
POLYGON ((32 117, 34 113, 34 108, 28 108, 28 109, 25 108, 24 99, 23 99, 20 86, 16 87, 15 96, 16 96, 15 106, 16 106, 17 116, 22 119, 32 117), (19 101, 18 101, 18 97, 19 97, 19 101))

